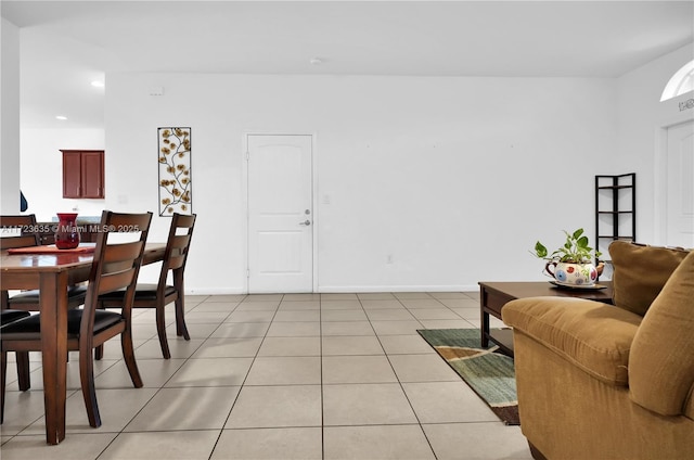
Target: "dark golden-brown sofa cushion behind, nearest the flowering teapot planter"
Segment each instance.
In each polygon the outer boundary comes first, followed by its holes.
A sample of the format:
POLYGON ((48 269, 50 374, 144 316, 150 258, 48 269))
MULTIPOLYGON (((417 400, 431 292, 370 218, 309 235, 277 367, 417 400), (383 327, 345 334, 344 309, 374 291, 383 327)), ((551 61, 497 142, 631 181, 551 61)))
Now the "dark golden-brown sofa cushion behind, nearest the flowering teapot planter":
POLYGON ((614 241, 609 245, 613 303, 644 316, 687 254, 685 250, 614 241))

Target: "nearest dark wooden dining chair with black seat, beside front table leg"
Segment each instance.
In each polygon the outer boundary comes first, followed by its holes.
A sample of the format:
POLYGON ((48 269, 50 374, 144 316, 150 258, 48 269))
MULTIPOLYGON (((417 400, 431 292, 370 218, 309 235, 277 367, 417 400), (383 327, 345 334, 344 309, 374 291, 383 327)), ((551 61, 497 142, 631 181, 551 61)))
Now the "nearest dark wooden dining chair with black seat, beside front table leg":
MULTIPOLYGON (((123 357, 130 373, 130 380, 136 388, 142 387, 142 378, 138 370, 132 345, 130 321, 134 286, 142 264, 142 254, 151 220, 152 213, 103 212, 100 223, 102 231, 97 237, 85 306, 67 311, 67 349, 79 352, 82 396, 89 424, 93 427, 101 425, 94 387, 92 353, 94 347, 120 335, 123 357), (124 233, 128 234, 124 235, 124 233), (126 238, 127 241, 124 241, 126 238), (98 308, 99 296, 119 289, 126 290, 120 311, 100 310, 98 308)), ((40 316, 41 314, 31 315, 2 329, 0 335, 2 352, 0 384, 2 385, 3 411, 8 352, 41 350, 40 316)))

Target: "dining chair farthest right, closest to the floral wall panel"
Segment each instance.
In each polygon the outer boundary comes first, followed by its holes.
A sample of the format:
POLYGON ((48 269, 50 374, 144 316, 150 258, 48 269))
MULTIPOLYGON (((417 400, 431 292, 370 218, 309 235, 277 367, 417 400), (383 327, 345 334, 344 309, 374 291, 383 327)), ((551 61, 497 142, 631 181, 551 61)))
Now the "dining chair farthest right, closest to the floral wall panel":
MULTIPOLYGON (((159 280, 156 284, 138 283, 134 291, 133 308, 155 308, 156 309, 156 330, 159 337, 159 346, 164 359, 169 359, 171 353, 169 350, 168 340, 166 337, 165 307, 175 303, 176 310, 176 334, 183 336, 190 341, 191 336, 188 332, 184 318, 184 291, 183 291, 183 271, 185 270, 185 261, 193 237, 193 228, 195 227, 196 215, 182 215, 174 213, 171 217, 171 226, 169 227, 169 235, 166 242, 164 260, 159 271, 159 280), (168 284, 169 272, 172 274, 174 284, 168 284)), ((123 304, 125 292, 114 291, 102 295, 99 298, 101 308, 118 307, 123 304)), ((97 349, 97 359, 103 356, 103 348, 97 349)))

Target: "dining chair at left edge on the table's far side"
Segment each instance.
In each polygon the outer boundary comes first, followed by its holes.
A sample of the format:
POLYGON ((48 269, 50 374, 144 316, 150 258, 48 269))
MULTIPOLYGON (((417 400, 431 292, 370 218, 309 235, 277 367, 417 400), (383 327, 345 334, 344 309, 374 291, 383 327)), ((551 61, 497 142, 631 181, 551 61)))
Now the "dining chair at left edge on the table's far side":
MULTIPOLYGON (((0 250, 14 250, 16 247, 38 246, 41 243, 39 226, 36 222, 36 215, 4 215, 0 216, 0 228, 3 231, 15 229, 16 235, 5 235, 0 238, 0 250)), ((8 233, 11 233, 8 231, 8 233)), ((83 286, 75 285, 67 289, 67 304, 70 308, 77 308, 85 303, 86 290, 83 286)), ((39 310, 39 291, 23 291, 12 296, 8 291, 0 291, 0 309, 16 309, 25 311, 39 310)))

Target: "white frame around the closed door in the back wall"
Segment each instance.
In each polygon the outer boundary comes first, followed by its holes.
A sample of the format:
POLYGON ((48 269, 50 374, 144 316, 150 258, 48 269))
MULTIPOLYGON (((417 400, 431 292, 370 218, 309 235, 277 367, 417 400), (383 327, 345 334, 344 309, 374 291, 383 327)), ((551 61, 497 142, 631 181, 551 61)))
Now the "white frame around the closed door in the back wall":
POLYGON ((262 131, 245 131, 243 133, 243 145, 242 145, 242 154, 241 154, 241 194, 242 194, 242 203, 243 203, 243 234, 245 237, 243 244, 243 259, 244 259, 244 292, 249 294, 250 292, 250 268, 248 260, 248 241, 250 240, 249 228, 248 228, 248 218, 250 217, 250 209, 248 207, 248 138, 250 136, 310 136, 311 137, 311 214, 312 214, 312 225, 311 225, 311 264, 312 264, 312 272, 311 272, 311 291, 313 293, 318 293, 318 225, 319 225, 319 213, 318 213, 318 155, 316 154, 316 144, 317 144, 317 133, 306 133, 306 132, 262 132, 262 131))

